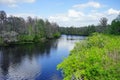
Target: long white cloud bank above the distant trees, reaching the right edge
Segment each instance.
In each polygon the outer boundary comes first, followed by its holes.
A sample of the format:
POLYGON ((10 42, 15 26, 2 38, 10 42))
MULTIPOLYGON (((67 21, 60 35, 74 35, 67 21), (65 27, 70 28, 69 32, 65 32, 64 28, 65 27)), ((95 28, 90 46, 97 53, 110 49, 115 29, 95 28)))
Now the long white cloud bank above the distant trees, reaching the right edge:
POLYGON ((66 13, 62 13, 59 15, 50 16, 48 19, 51 22, 57 22, 60 26, 87 26, 91 24, 99 24, 99 20, 102 17, 108 18, 108 23, 110 24, 113 19, 116 18, 119 10, 108 9, 107 11, 93 11, 91 10, 89 13, 84 13, 81 11, 77 11, 74 9, 68 10, 66 13), (111 15, 110 15, 111 14, 111 15))

